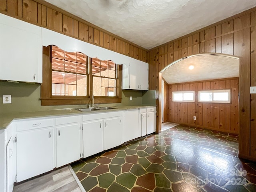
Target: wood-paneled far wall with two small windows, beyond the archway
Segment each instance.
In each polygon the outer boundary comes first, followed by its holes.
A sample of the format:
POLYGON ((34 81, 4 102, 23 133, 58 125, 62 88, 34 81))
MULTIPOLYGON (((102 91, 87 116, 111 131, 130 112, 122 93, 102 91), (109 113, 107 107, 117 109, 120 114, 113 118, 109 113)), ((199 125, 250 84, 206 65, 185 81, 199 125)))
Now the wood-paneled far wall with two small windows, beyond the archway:
POLYGON ((238 78, 168 85, 168 121, 238 134, 238 78), (231 103, 198 102, 198 91, 230 89, 231 103), (195 91, 195 102, 172 102, 173 91, 195 91), (196 120, 193 120, 196 116, 196 120))

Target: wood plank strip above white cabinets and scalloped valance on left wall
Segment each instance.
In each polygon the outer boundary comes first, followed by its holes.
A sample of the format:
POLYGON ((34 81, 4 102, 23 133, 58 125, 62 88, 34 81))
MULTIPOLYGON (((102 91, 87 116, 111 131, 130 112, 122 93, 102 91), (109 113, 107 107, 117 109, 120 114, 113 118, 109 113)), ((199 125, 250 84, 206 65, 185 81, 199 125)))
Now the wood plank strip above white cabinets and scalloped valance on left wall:
POLYGON ((45 1, 0 0, 0 12, 50 30, 147 61, 147 50, 45 1))

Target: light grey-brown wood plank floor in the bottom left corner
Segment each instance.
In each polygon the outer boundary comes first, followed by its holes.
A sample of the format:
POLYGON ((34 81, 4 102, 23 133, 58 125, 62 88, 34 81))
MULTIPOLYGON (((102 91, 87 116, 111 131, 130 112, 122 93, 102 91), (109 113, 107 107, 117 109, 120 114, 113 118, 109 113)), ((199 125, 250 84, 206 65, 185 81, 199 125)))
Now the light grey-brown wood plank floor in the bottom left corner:
POLYGON ((13 192, 85 192, 70 166, 14 186, 13 192), (76 177, 76 178, 75 178, 76 177), (76 181, 78 180, 78 182, 76 181))

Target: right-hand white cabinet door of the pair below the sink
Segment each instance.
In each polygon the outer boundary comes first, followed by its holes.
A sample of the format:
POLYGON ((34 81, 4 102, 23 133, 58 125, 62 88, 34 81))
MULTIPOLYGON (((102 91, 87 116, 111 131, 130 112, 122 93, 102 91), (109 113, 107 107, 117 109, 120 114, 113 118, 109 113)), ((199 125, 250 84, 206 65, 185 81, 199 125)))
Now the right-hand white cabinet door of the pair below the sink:
POLYGON ((121 118, 105 119, 104 123, 104 150, 119 146, 122 143, 121 118))

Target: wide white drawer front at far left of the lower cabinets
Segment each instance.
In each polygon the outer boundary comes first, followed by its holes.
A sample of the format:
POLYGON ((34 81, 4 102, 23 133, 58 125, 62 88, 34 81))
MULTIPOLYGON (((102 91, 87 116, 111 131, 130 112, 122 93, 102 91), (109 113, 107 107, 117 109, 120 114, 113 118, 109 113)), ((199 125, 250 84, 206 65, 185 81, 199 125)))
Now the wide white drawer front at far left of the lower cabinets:
POLYGON ((25 120, 16 123, 16 131, 26 131, 53 126, 53 119, 25 120))

